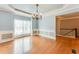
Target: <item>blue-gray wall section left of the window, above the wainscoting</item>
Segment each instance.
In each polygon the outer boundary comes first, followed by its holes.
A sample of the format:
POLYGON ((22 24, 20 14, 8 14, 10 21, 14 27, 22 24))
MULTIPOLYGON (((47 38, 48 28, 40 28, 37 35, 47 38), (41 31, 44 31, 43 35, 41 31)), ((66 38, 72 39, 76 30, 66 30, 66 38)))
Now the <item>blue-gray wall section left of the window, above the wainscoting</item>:
POLYGON ((0 11, 0 31, 13 31, 13 19, 12 13, 0 11))

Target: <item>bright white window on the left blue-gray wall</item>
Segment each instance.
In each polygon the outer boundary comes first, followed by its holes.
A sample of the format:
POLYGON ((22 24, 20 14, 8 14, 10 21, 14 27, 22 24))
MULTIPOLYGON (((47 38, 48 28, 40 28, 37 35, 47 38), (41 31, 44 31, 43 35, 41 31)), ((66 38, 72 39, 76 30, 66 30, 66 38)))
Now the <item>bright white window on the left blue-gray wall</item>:
POLYGON ((31 21, 26 20, 14 20, 14 27, 15 27, 15 35, 22 35, 31 33, 31 21))

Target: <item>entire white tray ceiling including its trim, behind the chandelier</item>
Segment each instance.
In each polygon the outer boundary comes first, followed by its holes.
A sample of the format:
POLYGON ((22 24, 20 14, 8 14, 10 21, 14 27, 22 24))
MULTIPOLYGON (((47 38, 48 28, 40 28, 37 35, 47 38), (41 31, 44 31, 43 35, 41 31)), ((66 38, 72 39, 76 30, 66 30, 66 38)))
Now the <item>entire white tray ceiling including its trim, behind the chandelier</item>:
MULTIPOLYGON (((35 6, 36 4, 11 4, 11 5, 17 9, 20 9, 26 12, 30 12, 30 13, 36 12, 36 6, 35 6)), ((78 8, 79 8, 79 4, 39 4, 39 12, 44 15, 51 15, 56 13, 57 15, 63 15, 65 13, 79 11, 78 8)), ((26 15, 22 12, 18 12, 14 10, 8 4, 0 4, 0 11, 1 10, 8 11, 8 12, 11 11, 16 14, 26 15)))

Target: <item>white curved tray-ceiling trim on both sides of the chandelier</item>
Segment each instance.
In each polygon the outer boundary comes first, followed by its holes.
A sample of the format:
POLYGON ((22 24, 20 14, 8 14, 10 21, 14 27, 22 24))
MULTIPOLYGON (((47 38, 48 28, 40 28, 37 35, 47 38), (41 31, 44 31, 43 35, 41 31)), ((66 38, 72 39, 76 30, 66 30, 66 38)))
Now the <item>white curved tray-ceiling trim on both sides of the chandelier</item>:
MULTIPOLYGON (((71 11, 71 10, 74 10, 76 11, 76 9, 78 9, 79 7, 74 7, 74 8, 67 8, 69 7, 70 5, 69 4, 64 4, 61 8, 59 9, 56 9, 56 10, 52 10, 52 11, 49 11, 47 13, 43 13, 42 15, 43 16, 49 16, 49 15, 60 15, 60 14, 63 14, 67 11, 71 11)), ((18 12, 16 10, 13 10, 12 8, 8 7, 8 9, 4 9, 4 8, 0 8, 1 11, 7 11, 7 12, 13 12, 14 14, 18 14, 18 15, 23 15, 23 16, 28 16, 28 17, 32 17, 32 15, 28 15, 28 14, 25 14, 25 13, 22 13, 22 12, 18 12)), ((68 12, 67 12, 68 13, 68 12)))

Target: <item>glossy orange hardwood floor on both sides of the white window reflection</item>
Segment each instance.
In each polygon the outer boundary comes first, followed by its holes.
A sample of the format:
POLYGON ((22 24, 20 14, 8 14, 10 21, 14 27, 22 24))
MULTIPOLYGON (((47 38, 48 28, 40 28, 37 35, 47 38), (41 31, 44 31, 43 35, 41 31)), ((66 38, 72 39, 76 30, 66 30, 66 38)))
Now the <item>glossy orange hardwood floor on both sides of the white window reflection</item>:
MULTIPOLYGON (((0 44, 0 53, 12 52, 14 41, 0 44)), ((32 37, 32 54, 72 54, 72 48, 79 54, 79 39, 58 36, 56 40, 40 36, 32 37)))

